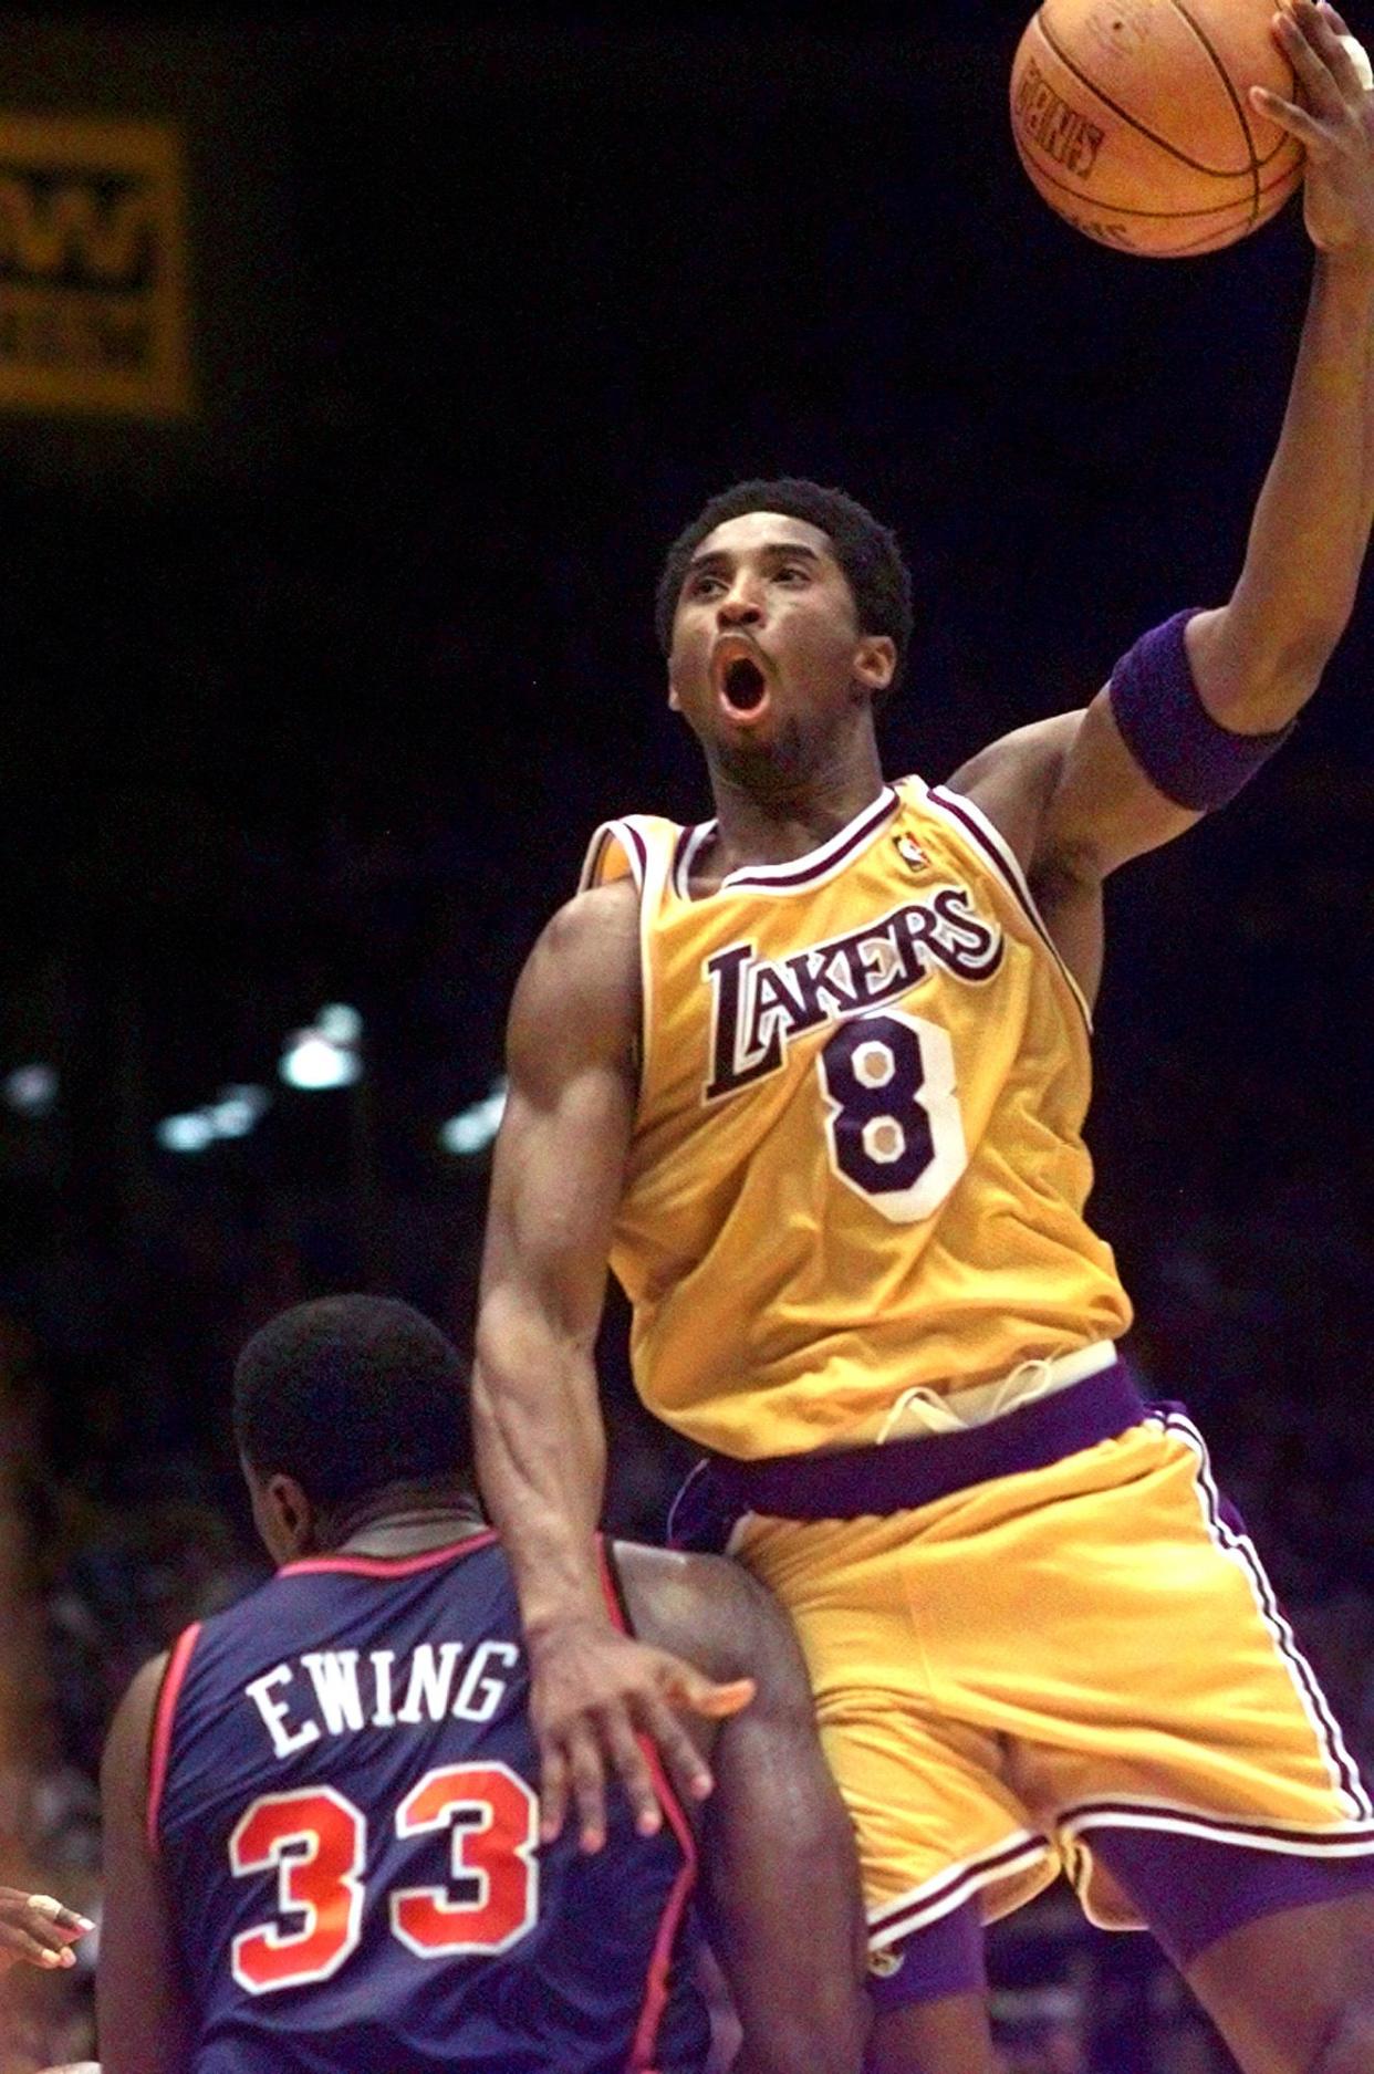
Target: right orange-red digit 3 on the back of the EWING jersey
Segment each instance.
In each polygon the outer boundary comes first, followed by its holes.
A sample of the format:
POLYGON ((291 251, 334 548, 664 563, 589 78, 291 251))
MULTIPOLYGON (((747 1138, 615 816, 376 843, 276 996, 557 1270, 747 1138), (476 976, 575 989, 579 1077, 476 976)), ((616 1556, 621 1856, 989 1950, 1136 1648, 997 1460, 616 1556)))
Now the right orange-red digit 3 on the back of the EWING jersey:
POLYGON ((538 1802, 506 1765, 428 1771, 396 1809, 396 1835, 452 1831, 450 1898, 442 1887, 403 1887, 390 1927, 421 1958, 504 1952, 540 1912, 538 1802))

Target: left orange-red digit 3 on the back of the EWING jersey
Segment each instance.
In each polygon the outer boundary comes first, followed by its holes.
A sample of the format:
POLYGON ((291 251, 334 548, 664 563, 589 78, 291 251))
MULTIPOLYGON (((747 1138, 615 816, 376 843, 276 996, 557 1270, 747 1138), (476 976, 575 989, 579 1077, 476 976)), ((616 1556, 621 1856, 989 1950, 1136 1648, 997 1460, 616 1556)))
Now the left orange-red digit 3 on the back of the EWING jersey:
POLYGON ((243 1815, 228 1840, 235 1875, 276 1867, 278 1914, 305 1918, 295 1931, 268 1923, 235 1937, 235 1981, 249 1995, 338 1972, 363 1927, 365 1848, 363 1817, 332 1786, 266 1794, 243 1815))

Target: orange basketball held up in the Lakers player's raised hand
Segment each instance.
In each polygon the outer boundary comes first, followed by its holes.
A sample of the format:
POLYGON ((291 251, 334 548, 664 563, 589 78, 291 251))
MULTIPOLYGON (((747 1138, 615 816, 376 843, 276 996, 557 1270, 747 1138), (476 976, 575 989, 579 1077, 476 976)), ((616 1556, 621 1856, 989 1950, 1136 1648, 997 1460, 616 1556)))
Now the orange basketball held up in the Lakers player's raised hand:
POLYGON ((1274 0, 1044 0, 1011 68, 1021 164, 1067 222, 1152 259, 1258 230, 1303 147, 1249 104, 1297 100, 1274 0))

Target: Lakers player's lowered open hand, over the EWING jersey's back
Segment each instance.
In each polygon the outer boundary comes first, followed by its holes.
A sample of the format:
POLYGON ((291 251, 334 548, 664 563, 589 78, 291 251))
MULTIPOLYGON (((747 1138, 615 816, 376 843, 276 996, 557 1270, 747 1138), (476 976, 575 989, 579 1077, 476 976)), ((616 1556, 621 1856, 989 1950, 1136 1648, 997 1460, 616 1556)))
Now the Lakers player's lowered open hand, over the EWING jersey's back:
POLYGON ((753 1699, 753 1680, 714 1684, 691 1663, 592 1620, 550 1628, 531 1645, 529 1715, 540 1744, 540 1838, 560 1831, 569 1802, 583 1850, 606 1842, 606 1779, 619 1777, 641 1835, 662 1825, 648 1736, 689 1800, 712 1790, 685 1713, 724 1719, 753 1699))

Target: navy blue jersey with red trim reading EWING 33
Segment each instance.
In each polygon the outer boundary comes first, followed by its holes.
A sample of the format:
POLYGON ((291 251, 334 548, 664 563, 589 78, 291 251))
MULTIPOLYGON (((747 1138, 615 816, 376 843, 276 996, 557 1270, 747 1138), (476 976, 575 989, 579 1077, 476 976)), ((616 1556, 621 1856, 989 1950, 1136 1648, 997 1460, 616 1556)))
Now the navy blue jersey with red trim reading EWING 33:
MULTIPOLYGON (((604 1558, 606 1593, 619 1614, 604 1558)), ((494 1535, 288 1564, 187 1630, 147 1821, 195 2074, 695 2074, 691 1831, 540 1846, 494 1535)))

